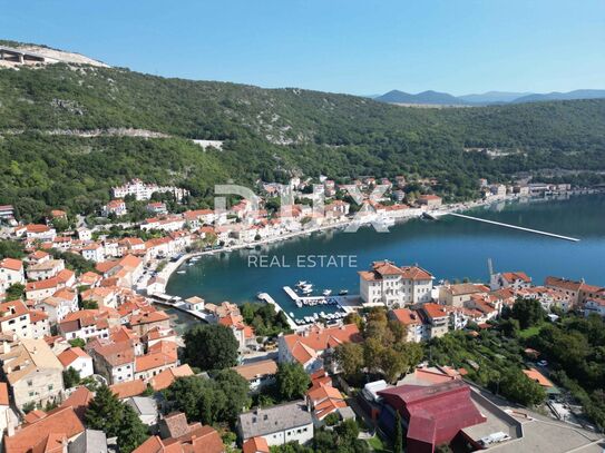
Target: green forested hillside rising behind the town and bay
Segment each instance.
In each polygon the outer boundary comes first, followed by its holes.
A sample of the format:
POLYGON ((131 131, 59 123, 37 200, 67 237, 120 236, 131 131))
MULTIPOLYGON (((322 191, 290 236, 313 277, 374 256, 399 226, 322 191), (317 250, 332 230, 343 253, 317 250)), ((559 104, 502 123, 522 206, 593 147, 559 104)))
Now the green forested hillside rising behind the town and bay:
POLYGON ((0 70, 0 204, 23 214, 89 213, 130 177, 188 187, 201 206, 215 183, 285 180, 292 173, 436 176, 438 190, 455 199, 474 195, 478 177, 605 170, 605 100, 417 109, 53 65, 0 70), (78 136, 110 128, 169 137, 78 136), (223 150, 204 150, 194 138, 224 140, 223 150), (486 147, 509 154, 465 151, 486 147))

